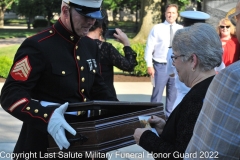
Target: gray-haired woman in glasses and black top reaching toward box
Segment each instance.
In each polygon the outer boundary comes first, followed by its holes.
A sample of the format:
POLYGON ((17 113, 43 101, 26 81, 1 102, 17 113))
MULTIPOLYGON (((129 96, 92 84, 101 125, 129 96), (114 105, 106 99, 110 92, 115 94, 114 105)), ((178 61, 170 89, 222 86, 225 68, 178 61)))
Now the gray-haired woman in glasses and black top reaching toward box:
POLYGON ((178 30, 172 47, 173 65, 179 79, 191 89, 167 122, 157 116, 149 119, 159 137, 145 128, 135 130, 136 143, 154 153, 155 159, 183 158, 208 86, 215 75, 214 67, 222 62, 220 38, 215 29, 205 23, 196 23, 178 30))

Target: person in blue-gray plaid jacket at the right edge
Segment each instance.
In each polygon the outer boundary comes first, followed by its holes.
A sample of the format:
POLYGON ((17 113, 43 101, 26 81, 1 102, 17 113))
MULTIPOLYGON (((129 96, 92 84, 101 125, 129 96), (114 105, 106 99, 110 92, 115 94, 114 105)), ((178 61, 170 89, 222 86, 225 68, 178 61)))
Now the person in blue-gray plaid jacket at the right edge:
MULTIPOLYGON (((240 42, 240 1, 235 13, 229 15, 236 25, 240 42)), ((240 158, 240 61, 223 69, 213 79, 203 108, 194 127, 186 154, 202 153, 208 159, 239 160, 240 158)), ((200 159, 199 157, 197 157, 200 159)), ((185 158, 196 159, 194 157, 185 158)))

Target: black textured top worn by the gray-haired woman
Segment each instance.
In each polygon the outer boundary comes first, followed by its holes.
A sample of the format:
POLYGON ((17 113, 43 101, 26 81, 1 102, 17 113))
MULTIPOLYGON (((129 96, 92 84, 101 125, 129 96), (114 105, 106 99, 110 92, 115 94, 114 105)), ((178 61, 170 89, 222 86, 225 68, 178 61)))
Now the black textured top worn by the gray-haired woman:
MULTIPOLYGON (((140 137, 139 145, 150 153, 168 153, 168 159, 183 159, 181 156, 192 137, 194 125, 213 77, 196 84, 186 94, 168 118, 160 138, 151 131, 145 131, 140 137)), ((158 155, 155 159, 166 159, 161 154, 158 155)))

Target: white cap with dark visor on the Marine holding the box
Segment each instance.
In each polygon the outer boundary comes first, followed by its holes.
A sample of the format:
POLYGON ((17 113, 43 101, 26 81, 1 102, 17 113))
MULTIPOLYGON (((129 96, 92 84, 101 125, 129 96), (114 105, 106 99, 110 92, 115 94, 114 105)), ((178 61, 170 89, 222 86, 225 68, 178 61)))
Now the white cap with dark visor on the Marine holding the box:
POLYGON ((63 0, 69 6, 86 17, 102 19, 104 16, 100 11, 102 0, 63 0))

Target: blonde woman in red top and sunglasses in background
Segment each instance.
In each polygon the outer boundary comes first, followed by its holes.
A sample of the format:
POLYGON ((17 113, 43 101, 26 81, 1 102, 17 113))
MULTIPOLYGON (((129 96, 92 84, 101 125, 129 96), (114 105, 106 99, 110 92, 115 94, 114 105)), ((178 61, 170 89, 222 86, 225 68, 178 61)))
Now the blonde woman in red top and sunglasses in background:
POLYGON ((223 18, 219 21, 217 32, 222 41, 223 47, 223 62, 225 66, 239 60, 240 45, 235 35, 235 27, 228 18, 223 18))

